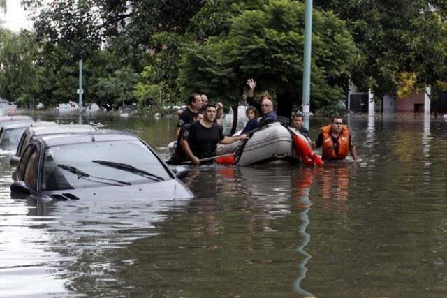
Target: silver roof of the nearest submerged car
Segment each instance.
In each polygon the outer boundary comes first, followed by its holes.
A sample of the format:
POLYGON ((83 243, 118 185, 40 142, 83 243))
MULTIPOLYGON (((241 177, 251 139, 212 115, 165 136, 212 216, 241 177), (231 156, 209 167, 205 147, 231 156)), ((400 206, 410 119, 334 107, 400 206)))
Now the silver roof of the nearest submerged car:
POLYGON ((89 142, 107 142, 122 140, 140 140, 135 135, 122 131, 101 130, 80 135, 44 135, 38 138, 43 140, 47 147, 60 146, 66 144, 82 144, 89 142))

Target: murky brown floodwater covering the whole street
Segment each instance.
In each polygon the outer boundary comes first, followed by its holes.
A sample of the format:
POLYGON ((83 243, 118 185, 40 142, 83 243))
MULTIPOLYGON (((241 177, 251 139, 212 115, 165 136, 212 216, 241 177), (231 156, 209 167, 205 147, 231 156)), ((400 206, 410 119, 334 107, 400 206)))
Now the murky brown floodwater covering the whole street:
MULTIPOLYGON (((187 202, 36 205, 0 156, 0 296, 446 297, 447 121, 348 120, 357 162, 193 168, 187 202)), ((175 137, 174 118, 89 121, 166 159, 175 137)))

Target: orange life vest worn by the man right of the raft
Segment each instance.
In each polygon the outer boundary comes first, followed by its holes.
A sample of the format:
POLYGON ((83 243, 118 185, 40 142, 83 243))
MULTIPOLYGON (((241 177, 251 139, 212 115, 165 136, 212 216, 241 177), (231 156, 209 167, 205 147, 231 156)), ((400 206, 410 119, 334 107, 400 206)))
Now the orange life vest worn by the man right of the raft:
POLYGON ((342 127, 342 132, 340 133, 337 140, 338 151, 334 149, 334 142, 330 136, 330 131, 332 125, 323 126, 320 128, 321 133, 323 133, 323 159, 344 159, 349 154, 349 129, 347 125, 342 127))

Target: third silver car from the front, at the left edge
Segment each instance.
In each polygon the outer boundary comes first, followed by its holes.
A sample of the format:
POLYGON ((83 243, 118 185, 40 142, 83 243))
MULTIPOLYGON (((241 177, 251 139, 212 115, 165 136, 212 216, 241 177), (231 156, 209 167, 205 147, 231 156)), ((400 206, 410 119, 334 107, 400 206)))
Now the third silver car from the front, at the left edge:
POLYGON ((13 151, 17 150, 17 144, 19 144, 20 137, 25 129, 30 126, 56 126, 55 122, 17 122, 6 124, 0 129, 0 149, 3 151, 13 151))

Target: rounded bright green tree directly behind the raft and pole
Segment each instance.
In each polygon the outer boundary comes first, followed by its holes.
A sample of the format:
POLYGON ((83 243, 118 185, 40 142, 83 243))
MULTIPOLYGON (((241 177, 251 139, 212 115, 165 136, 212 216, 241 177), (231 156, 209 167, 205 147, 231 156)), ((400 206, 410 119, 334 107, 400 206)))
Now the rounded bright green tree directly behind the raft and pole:
MULTIPOLYGON (((186 47, 184 93, 200 90, 235 104, 247 78, 254 77, 260 90, 276 91, 278 112, 289 117, 302 91, 304 10, 295 1, 267 1, 233 17, 228 33, 186 47)), ((312 105, 318 108, 342 98, 356 47, 333 13, 314 10, 313 18, 312 105)))

